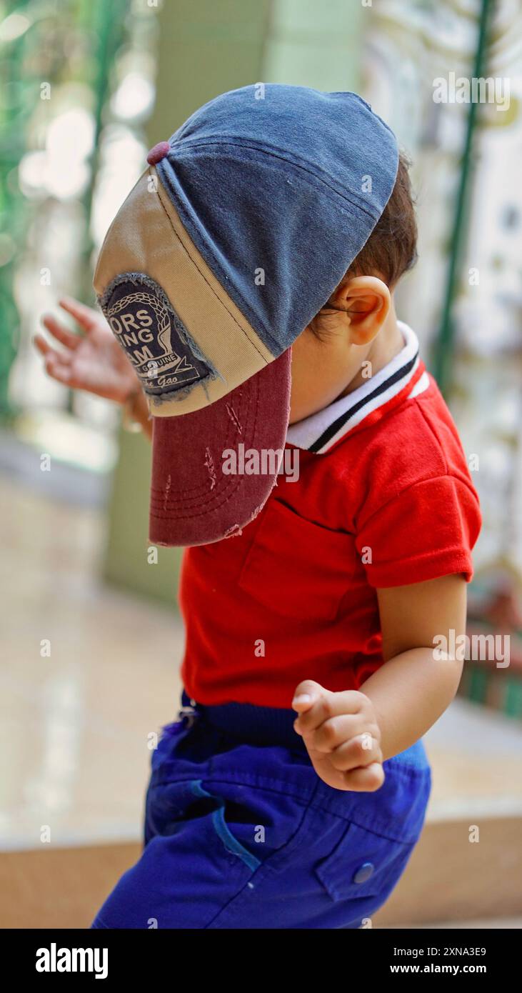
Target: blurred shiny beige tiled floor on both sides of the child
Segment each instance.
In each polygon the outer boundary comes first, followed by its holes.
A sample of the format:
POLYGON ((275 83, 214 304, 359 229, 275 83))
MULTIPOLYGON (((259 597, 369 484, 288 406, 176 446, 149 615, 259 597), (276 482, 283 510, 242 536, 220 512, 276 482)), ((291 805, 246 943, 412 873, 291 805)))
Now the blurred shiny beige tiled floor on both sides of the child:
MULTIPOLYGON (((98 510, 0 480, 0 521, 0 847, 36 847, 46 827, 53 845, 138 839, 148 736, 177 713, 180 621, 100 583, 98 510)), ((522 811, 518 724, 457 701, 426 744, 430 817, 522 811)))

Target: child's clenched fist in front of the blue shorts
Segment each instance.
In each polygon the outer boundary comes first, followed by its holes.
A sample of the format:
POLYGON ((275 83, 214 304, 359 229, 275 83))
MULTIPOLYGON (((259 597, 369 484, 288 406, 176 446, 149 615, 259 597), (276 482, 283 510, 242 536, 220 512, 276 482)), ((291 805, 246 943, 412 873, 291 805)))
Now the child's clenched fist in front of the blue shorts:
POLYGON ((305 679, 296 687, 292 707, 299 713, 294 727, 328 786, 358 792, 382 786, 381 733, 369 697, 358 690, 332 693, 305 679))

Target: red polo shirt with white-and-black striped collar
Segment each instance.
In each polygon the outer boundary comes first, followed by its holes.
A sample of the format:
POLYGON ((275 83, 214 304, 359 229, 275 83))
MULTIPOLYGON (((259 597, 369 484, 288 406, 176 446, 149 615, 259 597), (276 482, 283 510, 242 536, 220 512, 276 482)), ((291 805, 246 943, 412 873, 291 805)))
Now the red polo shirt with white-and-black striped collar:
POLYGON ((289 428, 298 482, 280 476, 240 535, 186 550, 182 677, 197 702, 288 708, 302 679, 358 689, 383 663, 376 589, 471 578, 478 497, 400 327, 405 348, 384 369, 289 428))

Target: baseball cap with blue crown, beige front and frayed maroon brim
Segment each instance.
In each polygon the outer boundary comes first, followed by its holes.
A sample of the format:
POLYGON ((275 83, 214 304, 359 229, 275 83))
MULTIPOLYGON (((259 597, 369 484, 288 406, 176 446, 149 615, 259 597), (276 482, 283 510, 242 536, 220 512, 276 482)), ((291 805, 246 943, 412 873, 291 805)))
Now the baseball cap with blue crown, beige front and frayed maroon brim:
POLYGON ((149 538, 205 544, 240 531, 277 482, 292 344, 383 212, 398 148, 355 93, 255 83, 205 103, 147 161, 94 288, 153 418, 149 538))

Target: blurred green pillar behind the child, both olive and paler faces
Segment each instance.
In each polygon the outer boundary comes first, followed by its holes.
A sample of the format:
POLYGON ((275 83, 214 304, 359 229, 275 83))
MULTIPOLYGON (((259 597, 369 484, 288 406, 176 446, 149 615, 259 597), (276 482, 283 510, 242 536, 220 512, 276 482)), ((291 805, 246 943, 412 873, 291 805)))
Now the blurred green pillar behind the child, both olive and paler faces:
MULTIPOLYGON (((157 100, 149 145, 202 103, 254 82, 358 89, 364 9, 345 0, 169 0, 158 14, 157 100)), ((148 564, 150 445, 121 432, 104 574, 117 586, 175 603, 181 551, 148 564)))

